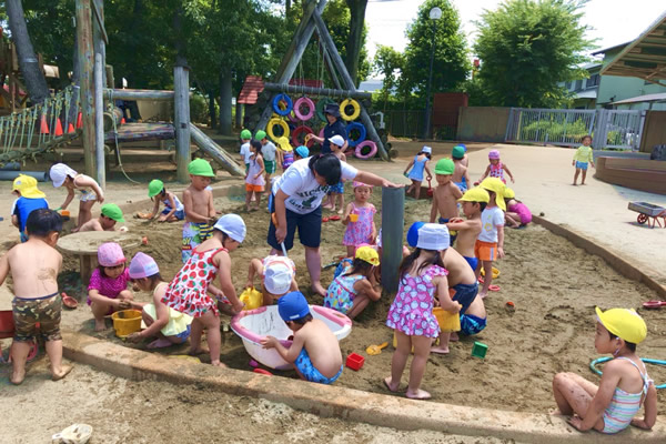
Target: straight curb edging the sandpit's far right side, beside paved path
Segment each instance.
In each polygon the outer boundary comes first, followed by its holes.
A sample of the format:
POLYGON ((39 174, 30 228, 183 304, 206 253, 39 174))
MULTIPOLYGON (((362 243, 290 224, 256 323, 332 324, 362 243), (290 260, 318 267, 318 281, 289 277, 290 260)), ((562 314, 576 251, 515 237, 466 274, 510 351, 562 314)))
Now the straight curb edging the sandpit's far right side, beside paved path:
POLYGON ((596 244, 594 241, 583 236, 579 233, 564 226, 556 224, 554 222, 548 221, 547 219, 538 215, 533 215, 532 220, 535 223, 544 226, 548 231, 563 236, 571 241, 574 245, 585 250, 589 254, 597 255, 602 258, 604 261, 608 262, 608 264, 622 274, 625 278, 628 278, 633 281, 640 282, 645 284, 648 289, 654 290, 659 297, 666 299, 666 286, 658 283, 652 275, 657 275, 656 272, 652 270, 639 270, 637 266, 632 264, 628 260, 624 259, 619 253, 610 251, 604 246, 596 244), (649 273, 649 274, 648 274, 649 273))

